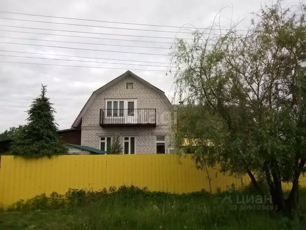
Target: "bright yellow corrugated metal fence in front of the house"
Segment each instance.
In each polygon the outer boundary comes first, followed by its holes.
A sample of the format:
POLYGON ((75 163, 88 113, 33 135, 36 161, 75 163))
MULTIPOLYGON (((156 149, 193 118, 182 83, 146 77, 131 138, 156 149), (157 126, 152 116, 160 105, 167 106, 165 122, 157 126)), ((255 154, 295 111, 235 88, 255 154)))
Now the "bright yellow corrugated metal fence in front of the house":
MULTIPOLYGON (((208 169, 212 192, 219 187, 241 186, 241 179, 208 169)), ((304 179, 304 178, 303 178, 304 179)), ((248 176, 242 177, 244 184, 248 176)), ((306 185, 305 180, 301 183, 306 185)), ((209 191, 206 171, 196 169, 190 155, 62 155, 24 159, 1 156, 0 206, 52 192, 65 194, 69 188, 102 190, 110 186, 134 185, 150 191, 188 193, 209 191)))

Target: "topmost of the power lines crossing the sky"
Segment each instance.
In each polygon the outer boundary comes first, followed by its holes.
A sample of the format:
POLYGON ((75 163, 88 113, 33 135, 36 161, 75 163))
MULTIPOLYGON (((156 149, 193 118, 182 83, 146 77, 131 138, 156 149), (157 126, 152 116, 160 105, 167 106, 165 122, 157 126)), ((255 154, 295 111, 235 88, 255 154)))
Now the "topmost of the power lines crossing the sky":
MULTIPOLYGON (((139 24, 139 23, 116 22, 116 21, 99 21, 99 20, 91 20, 91 19, 81 19, 81 18, 72 18, 72 17, 55 17, 55 16, 28 14, 28 13, 16 13, 16 12, 8 12, 8 11, 0 11, 0 13, 12 13, 12 14, 38 16, 38 17, 73 19, 73 20, 79 20, 79 21, 107 22, 107 23, 126 24, 126 25, 145 25, 145 26, 158 26, 158 27, 170 27, 170 28, 172 27, 172 28, 180 28, 180 29, 193 29, 193 28, 184 27, 184 26, 152 25, 152 24, 139 24)), ((211 28, 195 28, 195 29, 211 29, 211 28)), ((214 29, 214 30, 227 30, 227 29, 214 29)), ((247 30, 237 29, 236 31, 247 31, 247 30)))

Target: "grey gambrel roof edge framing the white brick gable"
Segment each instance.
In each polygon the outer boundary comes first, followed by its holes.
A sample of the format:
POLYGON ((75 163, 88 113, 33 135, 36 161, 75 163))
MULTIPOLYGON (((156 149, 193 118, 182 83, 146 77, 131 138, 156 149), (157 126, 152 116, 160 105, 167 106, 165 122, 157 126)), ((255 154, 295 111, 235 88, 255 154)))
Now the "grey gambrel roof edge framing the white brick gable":
POLYGON ((71 127, 72 127, 72 128, 73 128, 73 127, 76 127, 76 126, 80 123, 80 121, 81 121, 81 119, 82 119, 84 113, 86 112, 88 106, 91 104, 91 102, 94 100, 94 98, 96 97, 97 94, 101 93, 103 90, 106 90, 108 87, 110 87, 110 86, 116 84, 117 82, 121 81, 122 79, 124 79, 124 78, 127 77, 127 76, 131 76, 131 77, 137 79, 138 81, 144 83, 145 85, 149 86, 151 89, 156 90, 157 92, 161 93, 161 94, 164 96, 164 98, 166 99, 166 101, 171 105, 171 102, 170 102, 169 99, 166 97, 164 91, 162 91, 162 90, 160 90, 159 88, 153 86, 153 85, 150 84, 149 82, 145 81, 144 79, 138 77, 136 74, 134 74, 134 73, 132 73, 131 71, 128 70, 128 71, 126 71, 124 74, 122 74, 122 75, 120 75, 119 77, 115 78, 114 80, 108 82, 106 85, 104 85, 104 86, 102 86, 101 88, 95 90, 95 91, 91 94, 90 98, 88 99, 88 101, 86 102, 86 104, 84 105, 84 107, 82 108, 82 110, 81 110, 81 112, 79 113, 79 115, 76 117, 76 120, 73 122, 73 124, 72 124, 71 127))

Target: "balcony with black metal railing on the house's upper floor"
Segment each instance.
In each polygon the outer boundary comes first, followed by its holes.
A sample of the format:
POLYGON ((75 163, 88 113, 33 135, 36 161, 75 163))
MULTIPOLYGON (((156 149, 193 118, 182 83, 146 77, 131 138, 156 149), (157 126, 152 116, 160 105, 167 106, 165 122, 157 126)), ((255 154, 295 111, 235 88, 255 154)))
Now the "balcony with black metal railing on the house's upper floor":
POLYGON ((100 109, 100 126, 156 127, 156 109, 100 109))

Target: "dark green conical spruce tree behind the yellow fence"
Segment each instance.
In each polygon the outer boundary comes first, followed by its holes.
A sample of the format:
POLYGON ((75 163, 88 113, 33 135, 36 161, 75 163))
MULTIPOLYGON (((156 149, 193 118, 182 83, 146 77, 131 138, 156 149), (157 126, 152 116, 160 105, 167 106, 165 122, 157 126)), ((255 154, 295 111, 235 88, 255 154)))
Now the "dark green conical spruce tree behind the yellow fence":
POLYGON ((41 94, 35 98, 28 109, 28 124, 13 139, 11 154, 23 157, 42 157, 63 155, 68 148, 56 133, 53 104, 46 97, 47 86, 42 84, 41 94))

